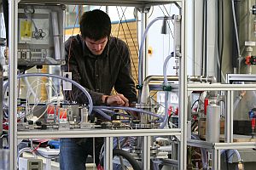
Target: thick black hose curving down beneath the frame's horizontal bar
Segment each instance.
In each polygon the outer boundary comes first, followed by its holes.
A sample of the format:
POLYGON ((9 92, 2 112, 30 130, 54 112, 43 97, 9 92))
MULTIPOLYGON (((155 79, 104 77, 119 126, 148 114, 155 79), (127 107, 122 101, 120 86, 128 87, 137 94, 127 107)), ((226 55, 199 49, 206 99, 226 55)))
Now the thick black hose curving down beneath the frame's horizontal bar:
MULTIPOLYGON (((134 157, 131 156, 131 154, 125 150, 114 149, 113 157, 114 156, 122 156, 123 158, 125 158, 127 161, 129 161, 133 170, 141 170, 142 169, 140 167, 140 165, 138 164, 138 162, 136 161, 136 159, 134 159, 134 157)), ((101 160, 101 165, 103 166, 103 159, 101 160)))

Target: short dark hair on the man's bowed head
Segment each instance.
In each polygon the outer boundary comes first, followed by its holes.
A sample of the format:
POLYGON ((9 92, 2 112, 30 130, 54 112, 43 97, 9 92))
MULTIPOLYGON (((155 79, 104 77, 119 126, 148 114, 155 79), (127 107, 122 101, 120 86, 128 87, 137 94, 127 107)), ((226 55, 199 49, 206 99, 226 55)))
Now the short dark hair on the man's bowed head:
POLYGON ((93 40, 99 40, 110 36, 111 21, 108 14, 102 10, 95 9, 84 12, 79 24, 83 38, 89 37, 93 40))

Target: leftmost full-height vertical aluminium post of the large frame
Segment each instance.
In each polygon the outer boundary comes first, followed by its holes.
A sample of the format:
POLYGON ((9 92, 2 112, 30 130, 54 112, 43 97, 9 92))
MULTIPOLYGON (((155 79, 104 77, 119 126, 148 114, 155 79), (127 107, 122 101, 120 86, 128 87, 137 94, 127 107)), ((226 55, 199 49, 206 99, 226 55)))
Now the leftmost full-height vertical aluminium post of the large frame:
POLYGON ((18 0, 9 0, 9 169, 17 161, 17 33, 18 0))

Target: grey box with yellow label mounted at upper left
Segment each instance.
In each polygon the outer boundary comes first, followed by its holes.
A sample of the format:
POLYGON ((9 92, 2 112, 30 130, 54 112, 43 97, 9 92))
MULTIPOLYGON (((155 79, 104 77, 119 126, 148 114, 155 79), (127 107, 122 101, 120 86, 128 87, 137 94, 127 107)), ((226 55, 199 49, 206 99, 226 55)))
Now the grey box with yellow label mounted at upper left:
POLYGON ((64 65, 64 5, 19 5, 18 65, 64 65))

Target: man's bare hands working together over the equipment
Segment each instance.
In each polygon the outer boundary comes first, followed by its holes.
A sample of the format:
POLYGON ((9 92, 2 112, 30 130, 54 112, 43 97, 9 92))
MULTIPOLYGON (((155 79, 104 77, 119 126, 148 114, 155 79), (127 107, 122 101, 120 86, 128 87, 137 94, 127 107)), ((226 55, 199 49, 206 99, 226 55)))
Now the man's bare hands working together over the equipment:
POLYGON ((102 103, 106 105, 129 106, 129 100, 123 94, 115 94, 113 96, 103 95, 102 103))

